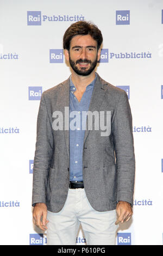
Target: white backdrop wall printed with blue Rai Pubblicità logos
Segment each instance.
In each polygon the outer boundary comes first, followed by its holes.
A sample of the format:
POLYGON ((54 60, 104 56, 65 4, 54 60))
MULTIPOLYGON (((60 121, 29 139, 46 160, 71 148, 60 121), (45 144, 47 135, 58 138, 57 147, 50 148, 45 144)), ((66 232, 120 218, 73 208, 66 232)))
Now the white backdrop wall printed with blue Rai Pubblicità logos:
POLYGON ((41 93, 70 76, 62 36, 83 19, 103 34, 98 74, 126 90, 133 114, 134 215, 116 243, 162 245, 162 9, 162 0, 0 0, 1 245, 46 245, 32 222, 36 118, 41 93))

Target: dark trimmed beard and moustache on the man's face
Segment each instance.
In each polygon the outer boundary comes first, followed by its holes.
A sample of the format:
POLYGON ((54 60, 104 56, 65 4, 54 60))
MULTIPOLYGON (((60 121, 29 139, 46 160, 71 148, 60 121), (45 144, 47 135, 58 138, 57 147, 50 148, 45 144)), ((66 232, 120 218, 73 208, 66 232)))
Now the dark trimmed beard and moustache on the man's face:
POLYGON ((76 72, 77 75, 89 76, 91 74, 91 72, 96 68, 98 61, 97 61, 97 56, 96 56, 95 62, 91 62, 91 60, 88 60, 88 59, 78 59, 75 63, 71 59, 71 57, 69 57, 69 62, 70 62, 71 68, 73 69, 74 72, 76 72), (86 70, 85 67, 78 69, 78 67, 76 66, 78 63, 90 63, 90 68, 88 70, 86 70))

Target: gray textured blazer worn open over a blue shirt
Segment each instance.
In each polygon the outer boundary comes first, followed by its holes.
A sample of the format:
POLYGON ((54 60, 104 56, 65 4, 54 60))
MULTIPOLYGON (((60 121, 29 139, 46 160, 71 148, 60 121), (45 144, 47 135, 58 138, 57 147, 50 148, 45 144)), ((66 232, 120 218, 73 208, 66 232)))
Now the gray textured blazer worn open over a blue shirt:
MULTIPOLYGON (((37 117, 32 204, 45 203, 52 212, 63 208, 70 181, 69 130, 65 124, 69 97, 70 78, 42 93, 37 117), (66 129, 53 129, 54 111, 62 112, 66 129)), ((111 131, 101 136, 100 127, 85 130, 83 182, 87 199, 97 211, 114 210, 119 200, 133 204, 135 155, 127 93, 97 74, 89 111, 111 112, 111 131)))

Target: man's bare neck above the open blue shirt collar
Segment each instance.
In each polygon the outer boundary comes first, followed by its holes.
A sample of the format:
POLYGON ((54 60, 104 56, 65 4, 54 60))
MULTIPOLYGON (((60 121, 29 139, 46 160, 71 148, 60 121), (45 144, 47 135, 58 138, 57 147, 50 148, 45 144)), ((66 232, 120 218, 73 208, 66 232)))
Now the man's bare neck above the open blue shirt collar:
POLYGON ((89 76, 79 76, 76 72, 72 71, 71 79, 77 90, 81 91, 84 90, 95 79, 95 77, 95 71, 92 71, 89 76))

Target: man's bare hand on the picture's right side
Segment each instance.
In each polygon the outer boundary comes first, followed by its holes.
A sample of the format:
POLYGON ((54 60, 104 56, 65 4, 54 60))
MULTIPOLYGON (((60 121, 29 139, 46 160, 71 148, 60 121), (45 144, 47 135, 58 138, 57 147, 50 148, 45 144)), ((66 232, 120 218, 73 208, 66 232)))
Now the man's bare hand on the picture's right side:
POLYGON ((131 205, 124 201, 118 202, 116 212, 118 216, 115 223, 116 225, 120 222, 123 223, 129 221, 133 215, 133 209, 131 208, 131 205))

